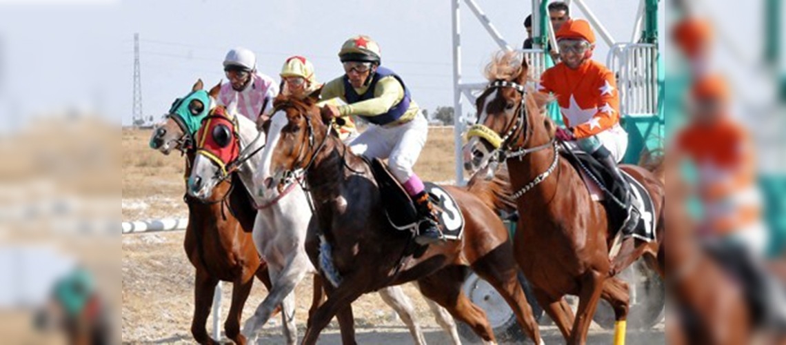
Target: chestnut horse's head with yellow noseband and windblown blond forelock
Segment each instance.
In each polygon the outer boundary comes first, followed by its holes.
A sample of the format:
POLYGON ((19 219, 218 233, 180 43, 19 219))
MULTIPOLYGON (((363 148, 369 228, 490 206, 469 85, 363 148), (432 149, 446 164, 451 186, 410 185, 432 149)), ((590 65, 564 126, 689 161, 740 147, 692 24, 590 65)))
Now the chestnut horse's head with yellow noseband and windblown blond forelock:
POLYGON ((487 65, 490 83, 476 101, 478 120, 463 149, 466 170, 478 171, 505 153, 552 140, 554 125, 543 108, 549 97, 527 86, 528 69, 527 60, 515 52, 500 52, 487 65))

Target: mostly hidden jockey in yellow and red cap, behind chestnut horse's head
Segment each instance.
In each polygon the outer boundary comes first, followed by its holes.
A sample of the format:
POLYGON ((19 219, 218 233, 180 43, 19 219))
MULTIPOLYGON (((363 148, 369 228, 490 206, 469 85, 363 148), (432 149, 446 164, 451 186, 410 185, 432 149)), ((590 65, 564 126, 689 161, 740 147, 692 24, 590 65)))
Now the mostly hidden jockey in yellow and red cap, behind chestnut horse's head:
MULTIPOLYGON (((281 94, 292 95, 303 99, 308 95, 318 91, 322 84, 317 82, 317 75, 314 74, 314 64, 305 57, 289 57, 284 66, 281 67, 281 94)), ((320 101, 317 105, 322 107, 332 100, 320 101)), ((354 126, 351 116, 343 116, 342 124, 335 121, 333 127, 339 134, 339 138, 344 142, 351 142, 358 137, 358 129, 354 126)))

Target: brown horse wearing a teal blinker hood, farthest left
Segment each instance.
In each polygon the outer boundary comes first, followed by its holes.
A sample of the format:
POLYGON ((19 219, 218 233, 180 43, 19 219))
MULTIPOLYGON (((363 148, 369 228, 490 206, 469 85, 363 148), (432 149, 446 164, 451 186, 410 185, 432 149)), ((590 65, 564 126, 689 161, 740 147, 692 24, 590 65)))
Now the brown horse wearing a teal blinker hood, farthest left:
MULTIPOLYGON (((185 177, 191 174, 196 156, 193 134, 200 126, 199 116, 215 107, 212 100, 220 90, 219 86, 215 86, 208 92, 203 90, 203 86, 202 80, 198 80, 189 95, 174 102, 166 122, 153 130, 149 142, 152 149, 165 155, 173 150, 184 153, 185 177)), ((232 187, 231 182, 220 184, 216 187, 215 197, 208 200, 199 200, 188 194, 183 197, 189 207, 189 223, 183 244, 185 254, 196 269, 191 334, 198 343, 218 343, 208 336, 205 324, 219 281, 232 282, 232 302, 224 330, 226 336, 238 344, 246 343, 240 322, 254 277, 259 278, 268 290, 271 287, 267 265, 259 258, 252 239, 256 210, 248 206, 250 196, 245 189, 232 187)))

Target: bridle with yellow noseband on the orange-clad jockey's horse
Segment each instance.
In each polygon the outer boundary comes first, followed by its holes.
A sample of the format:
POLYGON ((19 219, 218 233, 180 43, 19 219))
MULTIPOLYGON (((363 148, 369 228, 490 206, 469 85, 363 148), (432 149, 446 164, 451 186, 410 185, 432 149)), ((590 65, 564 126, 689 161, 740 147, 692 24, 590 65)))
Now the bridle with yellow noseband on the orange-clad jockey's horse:
POLYGON ((558 152, 559 149, 554 138, 543 145, 538 145, 533 148, 526 148, 527 142, 530 141, 534 132, 534 129, 527 123, 527 88, 519 83, 509 82, 506 80, 497 80, 494 83, 490 83, 486 87, 486 90, 504 87, 511 87, 513 90, 516 90, 519 92, 519 94, 521 94, 521 101, 518 105, 518 111, 516 112, 516 116, 511 119, 510 123, 505 126, 509 128, 505 131, 505 135, 500 137, 496 131, 491 130, 489 127, 486 127, 483 124, 476 123, 470 127, 467 137, 479 137, 486 139, 486 141, 492 147, 494 147, 494 151, 490 152, 493 164, 505 162, 512 158, 523 160, 524 156, 527 156, 532 152, 538 152, 549 148, 554 149, 554 160, 552 161, 549 168, 542 174, 538 174, 534 180, 532 180, 530 183, 527 183, 527 185, 524 185, 523 188, 513 193, 512 196, 515 199, 518 199, 533 189, 534 186, 541 184, 545 178, 548 178, 549 175, 554 172, 554 169, 556 169, 557 163, 560 160, 560 154, 558 152), (521 145, 514 147, 513 145, 515 145, 515 141, 512 141, 511 139, 519 138, 522 135, 523 141, 521 141, 521 145))

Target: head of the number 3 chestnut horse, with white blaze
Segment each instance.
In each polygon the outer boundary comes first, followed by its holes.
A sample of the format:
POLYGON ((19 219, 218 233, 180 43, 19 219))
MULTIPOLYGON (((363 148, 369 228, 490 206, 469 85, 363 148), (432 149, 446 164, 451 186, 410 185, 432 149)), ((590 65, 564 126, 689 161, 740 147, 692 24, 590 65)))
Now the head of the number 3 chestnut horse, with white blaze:
POLYGON ((259 196, 274 197, 296 182, 325 145, 330 127, 322 120, 316 97, 280 95, 274 101, 273 116, 263 126, 267 142, 255 176, 259 196))

